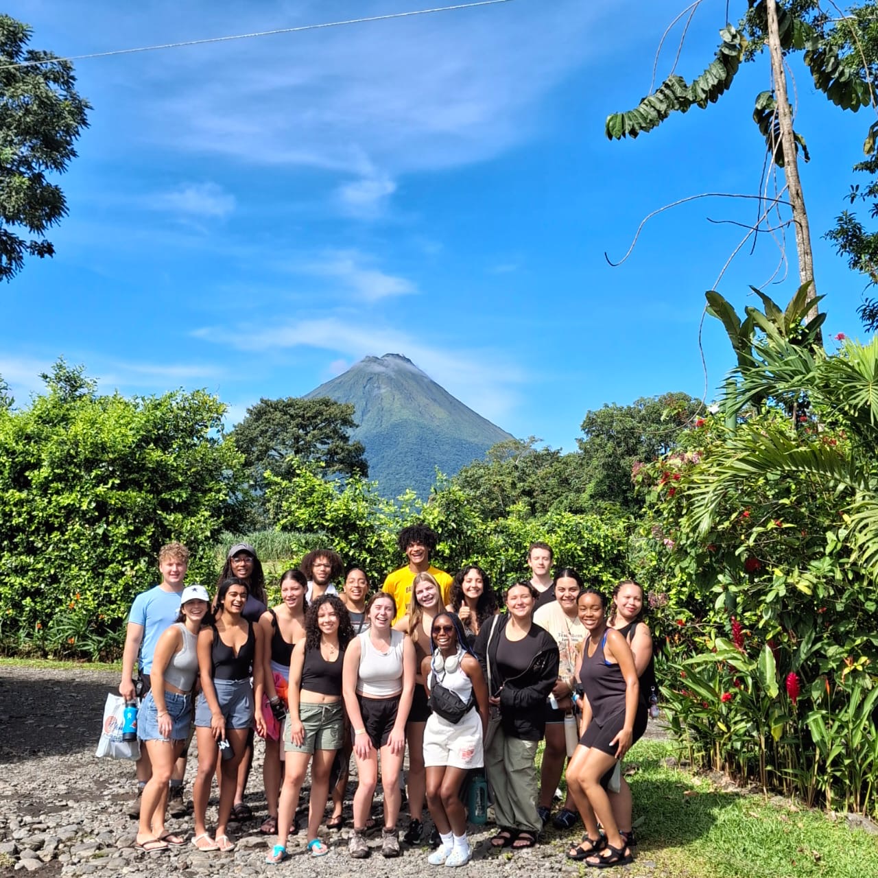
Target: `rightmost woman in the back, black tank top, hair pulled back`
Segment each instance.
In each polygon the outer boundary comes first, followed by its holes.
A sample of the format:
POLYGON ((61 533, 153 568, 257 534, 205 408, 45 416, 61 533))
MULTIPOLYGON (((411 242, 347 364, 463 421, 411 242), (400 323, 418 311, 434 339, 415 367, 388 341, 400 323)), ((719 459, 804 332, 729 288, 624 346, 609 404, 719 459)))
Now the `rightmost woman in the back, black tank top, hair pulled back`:
MULTIPOLYGON (((652 655, 652 635, 643 621, 644 590, 632 579, 625 579, 613 589, 613 606, 608 625, 615 628, 627 641, 634 653, 634 666, 640 681, 641 710, 650 709, 651 698, 658 699, 659 687, 656 682, 655 659, 652 655)), ((631 788, 620 772, 619 792, 609 792, 609 802, 613 806, 615 822, 619 833, 628 845, 635 844, 634 830, 631 828, 632 802, 631 788)))

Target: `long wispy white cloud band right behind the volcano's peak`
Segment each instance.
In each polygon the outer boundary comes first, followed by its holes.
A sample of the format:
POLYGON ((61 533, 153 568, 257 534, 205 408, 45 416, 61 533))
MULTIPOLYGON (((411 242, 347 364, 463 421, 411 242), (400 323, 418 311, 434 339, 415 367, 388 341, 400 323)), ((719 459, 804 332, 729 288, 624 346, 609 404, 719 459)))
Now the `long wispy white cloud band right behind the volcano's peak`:
POLYGON ((192 335, 263 354, 298 347, 343 353, 355 359, 402 354, 457 399, 501 426, 502 420, 520 403, 520 388, 528 380, 521 367, 500 351, 433 348, 420 336, 379 324, 367 325, 362 320, 349 323, 327 317, 292 320, 274 327, 203 327, 192 335))

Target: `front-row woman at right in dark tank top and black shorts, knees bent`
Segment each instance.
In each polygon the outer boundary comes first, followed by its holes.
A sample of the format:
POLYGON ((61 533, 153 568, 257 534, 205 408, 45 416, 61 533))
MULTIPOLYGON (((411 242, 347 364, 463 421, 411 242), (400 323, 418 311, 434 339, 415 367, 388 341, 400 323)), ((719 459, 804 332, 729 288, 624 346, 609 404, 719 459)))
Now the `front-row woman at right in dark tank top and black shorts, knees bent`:
MULTIPOLYGON (((567 788, 573 795, 587 835, 572 847, 571 860, 587 866, 623 866, 632 860, 619 833, 606 788, 616 765, 637 736, 639 685, 630 646, 607 626, 604 596, 593 588, 579 595, 579 619, 587 630, 576 673, 586 692, 583 735, 567 766, 567 788), (604 835, 598 828, 600 820, 604 835)), ((643 730, 640 730, 643 733, 643 730)))

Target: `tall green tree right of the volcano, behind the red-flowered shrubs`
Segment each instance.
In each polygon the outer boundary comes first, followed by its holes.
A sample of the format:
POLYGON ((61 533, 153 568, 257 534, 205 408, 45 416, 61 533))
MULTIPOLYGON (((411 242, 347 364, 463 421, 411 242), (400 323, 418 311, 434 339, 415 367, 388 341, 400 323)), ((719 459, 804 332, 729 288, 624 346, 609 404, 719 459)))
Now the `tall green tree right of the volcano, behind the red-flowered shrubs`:
POLYGON ((686 393, 635 399, 630 406, 605 404, 582 421, 577 439, 585 471, 588 500, 614 503, 623 509, 643 505, 635 495, 631 473, 667 454, 677 436, 703 411, 701 400, 686 393))

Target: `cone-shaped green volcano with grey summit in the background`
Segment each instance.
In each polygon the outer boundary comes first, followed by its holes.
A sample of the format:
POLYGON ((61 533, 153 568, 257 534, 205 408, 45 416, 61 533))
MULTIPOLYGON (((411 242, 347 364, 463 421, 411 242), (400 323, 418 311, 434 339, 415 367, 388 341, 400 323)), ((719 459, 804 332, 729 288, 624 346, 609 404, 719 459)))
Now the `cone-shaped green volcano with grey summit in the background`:
POLYGON ((399 354, 367 356, 305 398, 319 396, 354 404, 351 438, 365 446, 369 478, 386 497, 407 488, 425 497, 436 468, 454 475, 511 438, 399 354))

